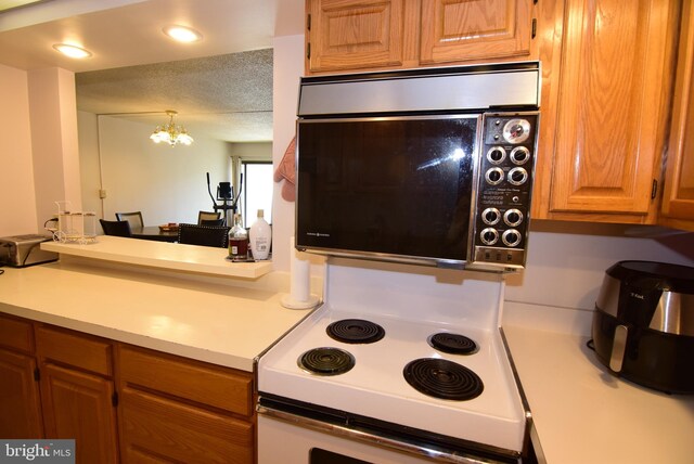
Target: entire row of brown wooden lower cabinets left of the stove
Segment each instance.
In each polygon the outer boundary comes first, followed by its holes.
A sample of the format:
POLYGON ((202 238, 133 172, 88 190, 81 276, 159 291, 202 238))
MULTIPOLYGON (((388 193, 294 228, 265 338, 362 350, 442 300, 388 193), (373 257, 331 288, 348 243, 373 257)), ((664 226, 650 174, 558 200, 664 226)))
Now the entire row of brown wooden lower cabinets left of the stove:
POLYGON ((79 464, 253 464, 255 399, 249 372, 0 314, 0 438, 75 439, 79 464))

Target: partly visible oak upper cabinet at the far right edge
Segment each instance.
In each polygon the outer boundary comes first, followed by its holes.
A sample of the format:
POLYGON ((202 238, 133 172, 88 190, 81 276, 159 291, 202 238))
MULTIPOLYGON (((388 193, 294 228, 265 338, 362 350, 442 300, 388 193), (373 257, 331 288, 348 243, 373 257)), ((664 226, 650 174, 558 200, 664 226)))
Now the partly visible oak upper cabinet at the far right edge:
POLYGON ((660 223, 694 230, 694 8, 682 12, 677 86, 660 223))

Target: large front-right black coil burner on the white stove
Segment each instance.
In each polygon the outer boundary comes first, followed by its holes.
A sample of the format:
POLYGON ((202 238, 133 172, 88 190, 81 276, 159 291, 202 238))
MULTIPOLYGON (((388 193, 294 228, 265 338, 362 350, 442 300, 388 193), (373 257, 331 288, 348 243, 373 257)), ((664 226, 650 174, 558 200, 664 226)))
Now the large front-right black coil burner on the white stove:
POLYGON ((472 400, 485 388, 470 369, 438 358, 415 359, 404 366, 402 375, 415 390, 445 400, 472 400))

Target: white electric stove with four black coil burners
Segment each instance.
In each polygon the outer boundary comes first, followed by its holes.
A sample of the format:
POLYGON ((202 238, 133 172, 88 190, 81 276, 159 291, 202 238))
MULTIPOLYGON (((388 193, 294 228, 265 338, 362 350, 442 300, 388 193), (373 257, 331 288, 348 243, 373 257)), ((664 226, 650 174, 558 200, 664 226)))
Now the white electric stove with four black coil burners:
POLYGON ((326 274, 324 305, 259 360, 259 463, 522 461, 501 274, 337 258, 326 274))

